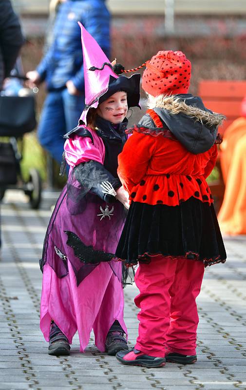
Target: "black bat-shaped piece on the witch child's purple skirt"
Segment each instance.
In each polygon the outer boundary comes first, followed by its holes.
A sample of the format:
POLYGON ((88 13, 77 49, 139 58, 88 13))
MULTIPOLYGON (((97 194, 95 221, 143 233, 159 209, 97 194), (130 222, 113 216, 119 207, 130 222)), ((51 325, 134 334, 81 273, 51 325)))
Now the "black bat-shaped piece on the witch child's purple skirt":
POLYGON ((110 261, 115 257, 112 253, 95 251, 92 245, 85 245, 73 232, 65 231, 65 233, 68 235, 67 245, 73 248, 75 256, 79 258, 82 263, 99 264, 101 262, 110 261))

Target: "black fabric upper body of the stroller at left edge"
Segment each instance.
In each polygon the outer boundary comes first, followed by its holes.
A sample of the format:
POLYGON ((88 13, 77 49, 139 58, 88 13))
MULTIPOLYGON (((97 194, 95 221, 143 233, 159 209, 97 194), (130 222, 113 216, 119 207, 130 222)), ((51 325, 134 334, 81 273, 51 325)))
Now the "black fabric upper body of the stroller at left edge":
POLYGON ((0 96, 0 136, 20 137, 35 129, 35 98, 0 96))

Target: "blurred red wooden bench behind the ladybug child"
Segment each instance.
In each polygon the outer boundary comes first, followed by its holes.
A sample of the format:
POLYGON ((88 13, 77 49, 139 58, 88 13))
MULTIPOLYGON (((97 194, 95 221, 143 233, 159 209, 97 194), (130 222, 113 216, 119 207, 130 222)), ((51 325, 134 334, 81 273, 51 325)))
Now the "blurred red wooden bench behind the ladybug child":
MULTIPOLYGON (((227 127, 241 116, 240 107, 246 95, 246 81, 239 80, 203 80, 198 86, 198 96, 210 110, 224 114, 227 119, 219 128, 219 133, 223 136, 227 127)), ((223 201, 225 184, 220 166, 220 151, 216 166, 219 178, 209 183, 211 192, 215 198, 215 208, 218 212, 223 201)))

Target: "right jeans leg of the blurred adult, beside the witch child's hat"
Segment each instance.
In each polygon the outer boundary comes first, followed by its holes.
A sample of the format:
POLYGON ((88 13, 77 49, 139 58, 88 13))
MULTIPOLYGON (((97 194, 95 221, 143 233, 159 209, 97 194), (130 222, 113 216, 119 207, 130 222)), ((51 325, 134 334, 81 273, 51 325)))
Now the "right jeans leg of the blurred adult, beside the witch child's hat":
POLYGON ((67 89, 62 91, 62 98, 66 121, 66 130, 64 131, 64 134, 66 134, 66 132, 77 126, 80 115, 84 109, 85 102, 84 95, 70 95, 67 89))

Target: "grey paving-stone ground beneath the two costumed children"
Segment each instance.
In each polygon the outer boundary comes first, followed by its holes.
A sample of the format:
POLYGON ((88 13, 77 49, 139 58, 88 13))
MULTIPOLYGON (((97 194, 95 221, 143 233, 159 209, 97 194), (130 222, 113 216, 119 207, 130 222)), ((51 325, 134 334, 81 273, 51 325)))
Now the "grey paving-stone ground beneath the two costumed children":
MULTIPOLYGON (((75 337, 71 356, 52 357, 39 331, 38 259, 57 194, 44 193, 39 211, 10 193, 1 206, 0 390, 246 389, 246 236, 226 238, 228 260, 206 270, 198 299, 198 362, 161 369, 120 365, 100 353, 93 336, 86 353, 75 337), (53 195, 53 198, 52 198, 53 195), (15 201, 12 203, 12 201, 15 201)), ((125 319, 137 334, 136 287, 125 289, 125 319)))

